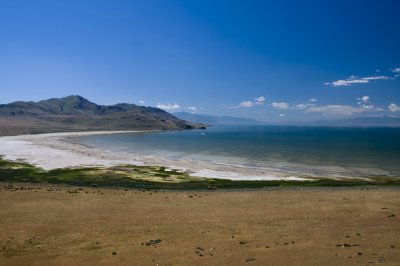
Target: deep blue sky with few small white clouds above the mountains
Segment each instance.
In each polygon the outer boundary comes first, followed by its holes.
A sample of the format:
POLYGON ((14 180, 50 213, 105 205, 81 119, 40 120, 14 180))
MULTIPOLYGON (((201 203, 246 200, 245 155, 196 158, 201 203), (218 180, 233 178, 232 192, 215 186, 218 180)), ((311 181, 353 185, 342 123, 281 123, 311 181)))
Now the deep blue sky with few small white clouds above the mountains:
POLYGON ((0 0, 0 103, 398 116, 399 14, 396 0, 0 0))

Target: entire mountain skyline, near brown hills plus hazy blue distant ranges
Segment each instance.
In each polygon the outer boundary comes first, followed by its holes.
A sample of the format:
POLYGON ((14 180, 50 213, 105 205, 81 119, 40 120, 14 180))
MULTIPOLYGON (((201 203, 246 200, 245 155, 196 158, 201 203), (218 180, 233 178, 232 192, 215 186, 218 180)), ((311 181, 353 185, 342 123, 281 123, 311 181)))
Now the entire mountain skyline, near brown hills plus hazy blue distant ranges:
POLYGON ((88 130, 181 130, 205 125, 298 125, 332 127, 400 127, 399 117, 357 117, 311 122, 266 123, 258 120, 177 112, 119 103, 98 105, 79 96, 39 102, 0 104, 0 135, 88 130))

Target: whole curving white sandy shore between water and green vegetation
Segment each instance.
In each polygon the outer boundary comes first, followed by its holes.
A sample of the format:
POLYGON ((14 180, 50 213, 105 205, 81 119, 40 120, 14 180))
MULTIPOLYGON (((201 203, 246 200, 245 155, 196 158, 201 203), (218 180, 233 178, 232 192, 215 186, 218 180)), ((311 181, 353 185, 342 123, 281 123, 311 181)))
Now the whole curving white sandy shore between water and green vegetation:
POLYGON ((5 159, 22 160, 45 170, 119 164, 161 165, 191 171, 193 176, 198 177, 231 180, 307 180, 297 177, 295 174, 282 173, 271 168, 251 168, 240 165, 169 160, 163 157, 117 153, 87 147, 71 140, 71 138, 79 136, 136 132, 138 131, 94 131, 0 137, 0 155, 3 155, 5 159))

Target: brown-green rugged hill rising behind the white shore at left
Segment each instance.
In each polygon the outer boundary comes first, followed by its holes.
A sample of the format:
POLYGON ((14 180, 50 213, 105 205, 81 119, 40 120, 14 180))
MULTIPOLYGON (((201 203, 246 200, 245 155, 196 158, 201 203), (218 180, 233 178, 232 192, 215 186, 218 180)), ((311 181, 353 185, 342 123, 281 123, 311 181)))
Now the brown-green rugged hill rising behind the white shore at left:
POLYGON ((79 96, 0 105, 0 135, 88 130, 180 130, 204 128, 154 107, 98 105, 79 96))

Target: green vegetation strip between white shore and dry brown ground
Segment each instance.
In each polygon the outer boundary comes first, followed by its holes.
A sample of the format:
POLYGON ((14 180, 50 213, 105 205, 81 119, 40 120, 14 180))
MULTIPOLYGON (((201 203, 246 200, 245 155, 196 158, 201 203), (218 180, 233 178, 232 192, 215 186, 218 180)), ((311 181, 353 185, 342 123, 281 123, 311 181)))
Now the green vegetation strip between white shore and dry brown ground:
POLYGON ((144 189, 253 189, 267 187, 347 187, 400 186, 400 178, 336 180, 319 178, 312 181, 232 181, 197 178, 161 166, 120 165, 115 167, 61 168, 45 171, 24 162, 4 160, 0 156, 0 181, 70 184, 92 187, 125 187, 144 189))

